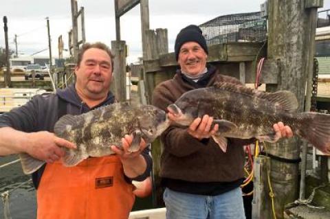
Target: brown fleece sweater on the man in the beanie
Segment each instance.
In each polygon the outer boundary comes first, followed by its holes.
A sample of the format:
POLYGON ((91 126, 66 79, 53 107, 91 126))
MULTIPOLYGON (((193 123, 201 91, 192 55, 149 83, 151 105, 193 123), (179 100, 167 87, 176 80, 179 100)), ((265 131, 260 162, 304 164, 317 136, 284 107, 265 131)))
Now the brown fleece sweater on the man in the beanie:
MULTIPOLYGON (((241 84, 236 78, 223 76, 213 67, 209 68, 208 78, 198 84, 187 80, 181 72, 175 77, 159 84, 153 91, 153 105, 167 112, 166 107, 173 104, 183 93, 200 87, 210 87, 215 82, 241 84), (206 81, 206 82, 205 82, 206 81)), ((227 152, 223 153, 217 143, 199 141, 190 136, 186 128, 170 126, 161 136, 164 146, 161 159, 163 178, 185 181, 186 183, 226 183, 243 178, 243 145, 252 139, 228 139, 227 152)))

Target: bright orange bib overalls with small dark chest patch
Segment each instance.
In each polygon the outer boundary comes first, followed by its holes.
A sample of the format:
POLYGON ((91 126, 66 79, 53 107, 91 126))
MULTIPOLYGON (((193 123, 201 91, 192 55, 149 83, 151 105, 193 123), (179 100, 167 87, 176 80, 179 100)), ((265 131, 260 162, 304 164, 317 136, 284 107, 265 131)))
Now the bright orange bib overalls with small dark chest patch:
POLYGON ((38 219, 127 219, 135 196, 115 156, 67 168, 48 163, 37 189, 38 219))

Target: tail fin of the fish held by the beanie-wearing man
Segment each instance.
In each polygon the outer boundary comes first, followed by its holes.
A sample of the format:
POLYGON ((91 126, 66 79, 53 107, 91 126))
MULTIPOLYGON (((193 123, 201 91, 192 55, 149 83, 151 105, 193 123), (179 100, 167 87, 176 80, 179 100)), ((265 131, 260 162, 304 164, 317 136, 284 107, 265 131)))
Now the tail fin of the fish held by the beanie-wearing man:
POLYGON ((307 139, 318 150, 330 155, 330 115, 322 113, 299 113, 301 126, 297 135, 307 139))

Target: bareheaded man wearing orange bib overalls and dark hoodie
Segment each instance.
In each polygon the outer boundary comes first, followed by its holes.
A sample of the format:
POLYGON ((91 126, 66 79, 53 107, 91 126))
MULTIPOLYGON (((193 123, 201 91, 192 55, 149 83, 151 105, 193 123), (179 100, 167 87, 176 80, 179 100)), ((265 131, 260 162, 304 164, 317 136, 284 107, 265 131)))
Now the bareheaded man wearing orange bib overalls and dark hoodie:
POLYGON ((146 143, 142 140, 140 150, 128 152, 132 137, 126 135, 122 149, 111 146, 116 154, 89 157, 68 168, 60 161, 62 147, 76 146, 52 133, 59 117, 79 115, 115 101, 109 92, 112 71, 109 47, 87 43, 78 55, 75 84, 54 94, 35 96, 1 115, 0 156, 23 152, 47 162, 32 174, 38 219, 129 217, 135 200, 131 181, 143 181, 152 168, 146 143))

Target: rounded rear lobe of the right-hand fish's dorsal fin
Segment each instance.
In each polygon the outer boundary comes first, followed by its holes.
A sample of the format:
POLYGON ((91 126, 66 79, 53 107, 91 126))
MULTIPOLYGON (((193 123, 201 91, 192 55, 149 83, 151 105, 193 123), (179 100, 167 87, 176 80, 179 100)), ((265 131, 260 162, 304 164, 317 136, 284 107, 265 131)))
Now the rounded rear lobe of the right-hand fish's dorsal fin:
POLYGON ((274 103, 276 107, 281 108, 284 111, 297 111, 298 100, 296 95, 290 91, 276 91, 275 93, 259 92, 256 93, 256 95, 260 95, 261 98, 274 103))

